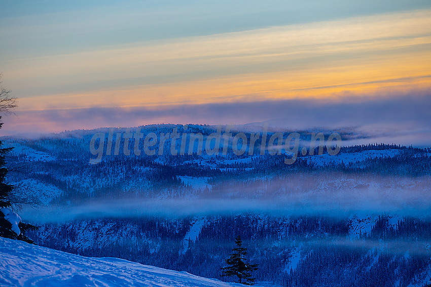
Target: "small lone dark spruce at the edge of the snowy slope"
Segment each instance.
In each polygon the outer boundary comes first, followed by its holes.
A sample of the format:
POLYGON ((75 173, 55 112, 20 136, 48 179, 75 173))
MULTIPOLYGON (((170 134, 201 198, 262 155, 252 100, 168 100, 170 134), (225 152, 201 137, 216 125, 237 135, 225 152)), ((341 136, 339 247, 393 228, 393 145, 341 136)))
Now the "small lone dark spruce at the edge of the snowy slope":
POLYGON ((253 285, 256 279, 252 278, 252 272, 258 269, 258 264, 244 262, 247 249, 242 247, 242 240, 239 235, 235 238, 235 244, 236 248, 232 249, 231 256, 225 260, 229 266, 222 268, 222 276, 237 276, 238 281, 235 282, 253 285))

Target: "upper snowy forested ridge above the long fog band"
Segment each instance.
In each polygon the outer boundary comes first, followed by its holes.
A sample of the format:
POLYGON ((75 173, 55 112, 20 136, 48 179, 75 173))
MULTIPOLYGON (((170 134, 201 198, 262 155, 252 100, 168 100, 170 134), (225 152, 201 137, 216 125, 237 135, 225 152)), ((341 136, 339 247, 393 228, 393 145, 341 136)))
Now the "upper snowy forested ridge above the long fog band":
MULTIPOLYGON (((142 133, 169 133, 173 127, 176 126, 151 126, 142 133)), ((209 135, 214 129, 189 126, 187 132, 209 135)), ((26 186, 42 190, 49 188, 51 191, 42 198, 44 201, 55 199, 64 202, 74 198, 124 196, 129 191, 142 196, 157 196, 165 189, 182 190, 182 194, 195 192, 195 189, 187 188, 191 184, 187 177, 205 178, 207 184, 217 189, 218 182, 227 179, 259 181, 262 177, 283 178, 299 173, 312 174, 313 177, 318 174, 318 177, 326 178, 331 177, 329 172, 351 176, 421 177, 431 174, 431 149, 386 144, 341 147, 334 156, 326 152, 325 146, 324 152, 318 155, 318 147, 315 147, 314 155, 308 151, 304 156, 298 151, 292 165, 283 163, 284 154, 270 155, 266 151, 260 155, 259 148, 255 148, 254 155, 236 155, 231 147, 227 155, 211 156, 205 152, 201 155, 156 153, 152 156, 143 153, 139 156, 133 153, 124 155, 120 152, 118 155, 104 155, 99 163, 90 165, 89 159, 94 155, 90 153, 89 144, 94 133, 74 131, 39 139, 5 138, 5 145, 14 147, 9 154, 9 166, 17 170, 9 173, 9 180, 13 183, 23 181, 21 185, 24 189, 26 186)), ((250 136, 250 133, 244 134, 250 136)), ((305 132, 300 134, 306 135, 305 132)), ((267 140, 270 135, 271 132, 268 132, 267 140)), ((340 132, 340 135, 343 139, 357 138, 350 132, 340 132)), ((124 139, 121 144, 124 144, 124 139)), ((165 145, 165 150, 169 150, 169 140, 165 145)), ((132 141, 129 147, 133 149, 132 141)))

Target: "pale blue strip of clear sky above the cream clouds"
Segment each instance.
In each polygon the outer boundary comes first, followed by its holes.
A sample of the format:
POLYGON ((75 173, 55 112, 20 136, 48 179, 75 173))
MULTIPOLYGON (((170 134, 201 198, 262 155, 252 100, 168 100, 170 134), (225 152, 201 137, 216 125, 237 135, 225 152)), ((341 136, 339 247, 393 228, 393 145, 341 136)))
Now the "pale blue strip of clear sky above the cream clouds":
POLYGON ((2 59, 431 8, 422 1, 2 1, 2 59))

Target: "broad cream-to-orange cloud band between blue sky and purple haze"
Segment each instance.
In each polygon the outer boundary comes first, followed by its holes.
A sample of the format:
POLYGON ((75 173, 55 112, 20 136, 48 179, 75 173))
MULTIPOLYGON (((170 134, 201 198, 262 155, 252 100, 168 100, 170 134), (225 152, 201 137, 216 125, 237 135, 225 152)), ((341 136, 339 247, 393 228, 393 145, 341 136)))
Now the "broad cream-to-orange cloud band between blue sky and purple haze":
POLYGON ((430 87, 430 51, 424 10, 22 59, 7 73, 34 91, 21 110, 337 100, 430 87), (118 84, 76 91, 98 81, 118 84), (68 88, 37 92, 50 85, 68 88))

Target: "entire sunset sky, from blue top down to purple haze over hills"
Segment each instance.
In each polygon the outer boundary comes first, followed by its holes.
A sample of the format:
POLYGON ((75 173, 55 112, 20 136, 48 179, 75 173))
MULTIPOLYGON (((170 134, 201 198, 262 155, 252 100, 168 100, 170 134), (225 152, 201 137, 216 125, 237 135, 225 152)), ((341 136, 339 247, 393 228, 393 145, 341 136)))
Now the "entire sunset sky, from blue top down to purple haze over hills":
POLYGON ((431 145, 431 1, 4 1, 0 135, 276 122, 431 145))

